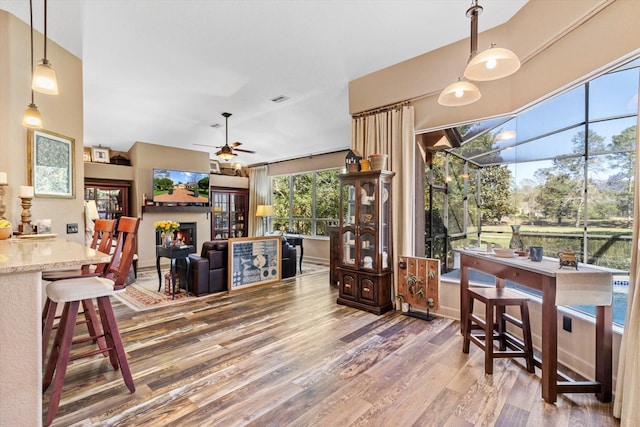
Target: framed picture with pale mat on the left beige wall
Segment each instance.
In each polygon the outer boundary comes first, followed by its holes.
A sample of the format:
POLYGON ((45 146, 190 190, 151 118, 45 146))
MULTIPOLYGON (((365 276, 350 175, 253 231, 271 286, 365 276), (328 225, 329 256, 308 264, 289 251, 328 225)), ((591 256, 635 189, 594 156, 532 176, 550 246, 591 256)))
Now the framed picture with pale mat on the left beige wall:
POLYGON ((29 129, 27 170, 36 197, 75 196, 74 143, 68 136, 29 129))

